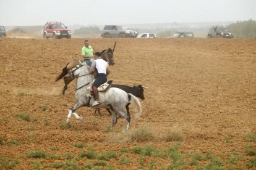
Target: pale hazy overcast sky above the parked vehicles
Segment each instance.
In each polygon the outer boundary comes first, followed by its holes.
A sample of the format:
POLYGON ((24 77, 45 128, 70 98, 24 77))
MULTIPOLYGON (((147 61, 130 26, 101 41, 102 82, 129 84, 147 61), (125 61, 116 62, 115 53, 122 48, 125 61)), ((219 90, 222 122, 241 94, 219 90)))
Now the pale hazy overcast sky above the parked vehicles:
POLYGON ((256 0, 0 0, 0 25, 129 25, 256 20, 256 0))

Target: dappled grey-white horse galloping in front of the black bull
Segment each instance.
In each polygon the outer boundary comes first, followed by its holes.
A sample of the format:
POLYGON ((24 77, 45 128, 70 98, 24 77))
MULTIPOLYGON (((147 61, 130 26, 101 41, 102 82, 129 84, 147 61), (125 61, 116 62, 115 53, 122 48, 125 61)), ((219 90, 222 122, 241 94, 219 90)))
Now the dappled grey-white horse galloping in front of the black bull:
MULTIPOLYGON (((88 86, 91 86, 91 82, 93 80, 90 67, 88 67, 85 62, 79 62, 79 65, 70 70, 70 73, 72 73, 73 76, 77 76, 77 89, 75 92, 75 99, 77 100, 77 103, 70 108, 69 114, 67 115, 67 123, 70 123, 70 118, 72 115, 74 115, 77 119, 83 119, 74 111, 83 106, 92 107, 92 104, 95 101, 93 97, 89 99, 86 96, 86 89, 88 86)), ((126 108, 126 105, 135 103, 137 108, 137 112, 135 113, 136 117, 139 117, 142 113, 140 101, 137 99, 137 97, 130 93, 127 94, 125 91, 115 87, 111 87, 105 92, 99 92, 99 99, 101 102, 100 105, 96 105, 93 108, 111 108, 112 126, 117 123, 116 115, 119 113, 127 121, 126 131, 128 131, 130 124, 130 115, 127 115, 127 113, 123 111, 124 108, 126 108)))

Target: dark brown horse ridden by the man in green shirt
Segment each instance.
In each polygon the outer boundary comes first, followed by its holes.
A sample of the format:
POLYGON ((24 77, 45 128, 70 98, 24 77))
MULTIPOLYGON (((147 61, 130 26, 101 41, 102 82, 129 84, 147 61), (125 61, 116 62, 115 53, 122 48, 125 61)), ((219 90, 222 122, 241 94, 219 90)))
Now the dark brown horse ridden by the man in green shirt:
MULTIPOLYGON (((109 65, 114 65, 114 57, 113 57, 113 50, 111 48, 105 49, 101 51, 100 56, 106 60, 109 65)), ((76 65, 79 65, 79 60, 72 60, 71 62, 67 63, 66 67, 62 69, 62 73, 56 78, 55 81, 58 81, 59 79, 64 79, 64 87, 62 89, 62 94, 65 94, 65 91, 67 89, 67 85, 75 79, 75 77, 66 76, 67 73, 69 73, 69 70, 74 68, 76 65)))

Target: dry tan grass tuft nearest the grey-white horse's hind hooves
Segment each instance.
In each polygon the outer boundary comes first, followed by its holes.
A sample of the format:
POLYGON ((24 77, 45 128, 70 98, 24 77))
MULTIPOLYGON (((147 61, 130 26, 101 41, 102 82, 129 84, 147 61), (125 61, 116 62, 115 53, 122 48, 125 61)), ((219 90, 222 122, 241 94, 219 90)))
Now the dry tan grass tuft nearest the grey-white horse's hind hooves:
POLYGON ((153 138, 153 131, 147 124, 142 124, 142 126, 130 132, 130 140, 133 142, 146 142, 153 138))

